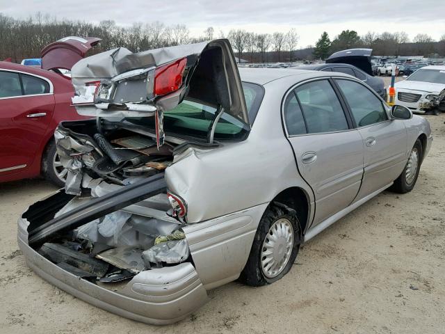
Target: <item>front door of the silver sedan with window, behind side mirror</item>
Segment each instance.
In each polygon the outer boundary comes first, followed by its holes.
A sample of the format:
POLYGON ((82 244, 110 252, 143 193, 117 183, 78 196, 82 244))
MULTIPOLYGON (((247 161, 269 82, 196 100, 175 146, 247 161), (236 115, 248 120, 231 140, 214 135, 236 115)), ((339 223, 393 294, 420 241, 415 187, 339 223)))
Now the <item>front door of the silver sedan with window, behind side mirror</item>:
POLYGON ((335 79, 364 145, 364 177, 356 200, 391 184, 407 159, 405 125, 391 120, 386 104, 373 90, 350 79, 335 79))

